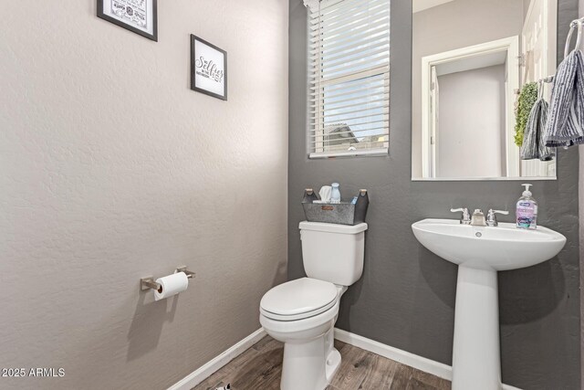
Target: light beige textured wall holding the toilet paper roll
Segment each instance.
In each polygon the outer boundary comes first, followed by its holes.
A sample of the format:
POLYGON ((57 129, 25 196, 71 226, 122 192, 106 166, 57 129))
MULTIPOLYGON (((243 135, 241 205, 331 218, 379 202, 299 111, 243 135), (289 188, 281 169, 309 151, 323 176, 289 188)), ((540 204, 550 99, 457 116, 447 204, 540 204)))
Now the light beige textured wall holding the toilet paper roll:
POLYGON ((259 328, 286 278, 286 0, 159 1, 159 42, 95 0, 0 2, 0 378, 162 389, 259 328), (229 100, 189 89, 189 34, 228 52, 229 100), (139 279, 178 265, 189 290, 139 279))

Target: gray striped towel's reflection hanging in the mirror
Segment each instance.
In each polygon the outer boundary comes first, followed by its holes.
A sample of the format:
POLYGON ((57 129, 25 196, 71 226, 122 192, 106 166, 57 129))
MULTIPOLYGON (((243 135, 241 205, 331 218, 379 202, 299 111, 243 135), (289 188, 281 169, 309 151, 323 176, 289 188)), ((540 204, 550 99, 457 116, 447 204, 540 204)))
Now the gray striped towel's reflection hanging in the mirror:
POLYGON ((531 112, 529 112, 523 144, 521 145, 521 160, 539 159, 541 161, 549 161, 554 158, 556 154, 554 149, 548 148, 543 141, 547 109, 547 101, 540 98, 534 104, 531 112))

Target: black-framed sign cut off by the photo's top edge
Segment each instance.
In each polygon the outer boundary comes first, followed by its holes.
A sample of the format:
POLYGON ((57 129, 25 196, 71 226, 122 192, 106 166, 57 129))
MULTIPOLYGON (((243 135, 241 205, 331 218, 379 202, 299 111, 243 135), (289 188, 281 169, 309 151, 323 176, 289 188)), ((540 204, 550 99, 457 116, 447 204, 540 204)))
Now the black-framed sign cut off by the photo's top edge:
POLYGON ((98 0, 98 16, 158 41, 156 0, 98 0))

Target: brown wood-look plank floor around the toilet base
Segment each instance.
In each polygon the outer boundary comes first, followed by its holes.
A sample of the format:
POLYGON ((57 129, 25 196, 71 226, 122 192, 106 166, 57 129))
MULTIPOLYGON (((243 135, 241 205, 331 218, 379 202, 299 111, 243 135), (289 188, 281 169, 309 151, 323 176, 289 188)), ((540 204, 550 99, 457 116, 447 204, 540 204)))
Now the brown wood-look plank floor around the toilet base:
MULTIPOLYGON (((342 356, 327 390, 446 390, 449 381, 335 340, 342 356)), ((279 390, 284 345, 266 336, 192 390, 279 390)))

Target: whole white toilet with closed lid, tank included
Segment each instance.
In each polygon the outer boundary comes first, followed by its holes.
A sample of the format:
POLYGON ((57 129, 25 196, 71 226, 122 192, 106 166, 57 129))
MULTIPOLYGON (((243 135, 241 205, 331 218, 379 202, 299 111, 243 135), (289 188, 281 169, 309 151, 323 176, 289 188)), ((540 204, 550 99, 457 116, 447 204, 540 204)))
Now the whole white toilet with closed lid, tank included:
POLYGON ((323 390, 339 369, 333 330, 341 295, 363 273, 367 224, 300 222, 308 278, 266 292, 259 321, 284 343, 282 390, 323 390))

